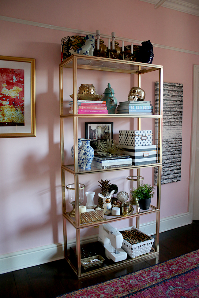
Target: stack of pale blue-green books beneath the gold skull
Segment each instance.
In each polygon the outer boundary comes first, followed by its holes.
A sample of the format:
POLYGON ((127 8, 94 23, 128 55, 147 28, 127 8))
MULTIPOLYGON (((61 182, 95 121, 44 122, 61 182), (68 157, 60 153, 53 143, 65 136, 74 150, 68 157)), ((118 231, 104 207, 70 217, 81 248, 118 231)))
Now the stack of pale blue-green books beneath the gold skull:
POLYGON ((119 103, 118 114, 129 114, 129 115, 152 115, 153 107, 151 101, 122 101, 119 103))

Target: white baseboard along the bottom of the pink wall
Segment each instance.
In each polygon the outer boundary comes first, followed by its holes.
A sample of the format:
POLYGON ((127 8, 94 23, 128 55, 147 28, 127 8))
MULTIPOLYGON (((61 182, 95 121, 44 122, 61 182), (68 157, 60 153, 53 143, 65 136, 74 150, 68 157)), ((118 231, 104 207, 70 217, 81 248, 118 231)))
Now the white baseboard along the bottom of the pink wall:
MULTIPOLYGON (((192 214, 189 212, 160 219, 160 233, 185 226, 192 223, 192 214)), ((156 232, 156 222, 140 225, 140 230, 148 235, 154 235, 156 232)), ((97 241, 98 236, 85 237, 82 243, 97 241)), ((75 240, 68 243, 68 248, 75 245, 75 240)), ((23 268, 36 266, 64 258, 63 243, 45 245, 41 247, 12 252, 0 255, 0 274, 15 271, 23 268)))

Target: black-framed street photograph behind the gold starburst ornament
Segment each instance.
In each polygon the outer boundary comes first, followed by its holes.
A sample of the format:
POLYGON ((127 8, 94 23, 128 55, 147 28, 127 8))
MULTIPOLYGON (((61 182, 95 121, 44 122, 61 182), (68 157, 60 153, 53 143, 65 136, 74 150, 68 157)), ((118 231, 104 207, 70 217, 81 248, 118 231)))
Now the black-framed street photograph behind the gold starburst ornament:
POLYGON ((96 149, 101 140, 113 139, 113 122, 85 122, 85 138, 96 149))

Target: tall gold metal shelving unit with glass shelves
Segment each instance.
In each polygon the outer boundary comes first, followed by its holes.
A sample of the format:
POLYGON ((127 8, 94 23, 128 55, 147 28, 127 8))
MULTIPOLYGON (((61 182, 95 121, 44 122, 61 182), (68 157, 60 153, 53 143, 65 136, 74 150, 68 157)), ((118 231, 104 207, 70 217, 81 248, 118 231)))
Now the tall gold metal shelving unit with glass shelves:
MULTIPOLYGON (((161 193, 161 169, 162 169, 162 113, 163 113, 163 66, 146 64, 139 62, 123 61, 102 57, 91 57, 83 55, 72 55, 59 65, 59 83, 60 83, 60 134, 61 134, 61 174, 62 174, 62 206, 63 206, 63 228, 64 228, 64 250, 65 258, 67 259, 70 266, 73 268, 78 278, 94 274, 96 272, 101 272, 104 270, 110 270, 112 267, 122 266, 124 263, 137 262, 141 259, 148 259, 158 255, 159 252, 159 232, 160 232, 160 193, 161 193), (73 75, 73 114, 64 114, 64 100, 63 100, 63 68, 72 68, 73 75), (137 75, 137 86, 141 87, 142 76, 146 76, 148 72, 158 72, 159 77, 159 102, 158 102, 158 111, 155 115, 122 115, 122 114, 109 114, 109 115, 96 115, 96 114, 81 114, 77 113, 77 70, 86 69, 96 70, 96 71, 107 71, 107 72, 118 72, 118 73, 128 73, 137 75), (121 167, 117 169, 96 169, 94 167, 89 171, 81 170, 78 167, 78 119, 87 118, 106 118, 108 119, 134 119, 137 118, 137 129, 141 130, 141 120, 143 118, 155 118, 158 123, 158 159, 155 164, 147 164, 142 166, 128 166, 121 167), (74 164, 66 164, 64 158, 64 120, 71 119, 73 121, 73 137, 74 137, 74 164), (117 217, 111 217, 110 219, 104 219, 103 221, 96 221, 91 223, 80 224, 79 217, 79 196, 78 194, 78 185, 79 185, 79 176, 101 173, 105 171, 124 171, 124 170, 133 170, 137 169, 137 175, 140 176, 141 168, 147 167, 157 167, 158 168, 158 179, 157 179, 157 200, 156 206, 150 206, 147 211, 140 211, 139 208, 131 212, 129 215, 121 215, 117 217), (65 172, 68 172, 74 176, 75 183, 75 218, 69 216, 69 212, 66 210, 66 193, 65 193, 65 172), (135 259, 127 259, 114 264, 107 264, 105 267, 95 267, 96 269, 82 272, 81 271, 81 252, 80 252, 80 230, 83 228, 88 228, 92 226, 99 226, 104 223, 111 223, 113 221, 121 221, 126 218, 136 218, 136 226, 139 228, 139 219, 140 216, 147 214, 156 213, 156 239, 155 239, 155 248, 152 248, 152 252, 138 256, 135 259), (69 222, 76 230, 76 252, 77 252, 77 266, 69 259, 68 250, 67 250, 67 233, 66 233, 66 222, 69 222)), ((66 123, 65 123, 66 124, 66 123)), ((70 127, 71 128, 71 127, 70 127)), ((79 136, 80 137, 80 136, 79 136)))

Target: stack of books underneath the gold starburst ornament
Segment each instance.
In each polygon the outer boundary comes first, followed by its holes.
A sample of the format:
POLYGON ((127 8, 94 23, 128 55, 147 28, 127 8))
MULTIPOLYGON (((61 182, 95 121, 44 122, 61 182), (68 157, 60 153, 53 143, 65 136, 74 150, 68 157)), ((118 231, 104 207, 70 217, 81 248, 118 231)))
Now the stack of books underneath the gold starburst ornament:
POLYGON ((127 167, 132 165, 132 158, 129 155, 100 156, 95 154, 91 166, 98 169, 111 169, 116 167, 127 167))

